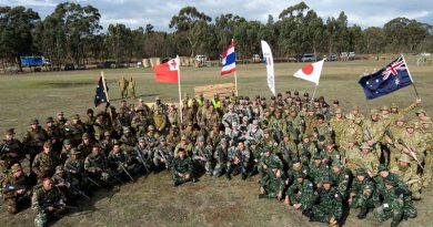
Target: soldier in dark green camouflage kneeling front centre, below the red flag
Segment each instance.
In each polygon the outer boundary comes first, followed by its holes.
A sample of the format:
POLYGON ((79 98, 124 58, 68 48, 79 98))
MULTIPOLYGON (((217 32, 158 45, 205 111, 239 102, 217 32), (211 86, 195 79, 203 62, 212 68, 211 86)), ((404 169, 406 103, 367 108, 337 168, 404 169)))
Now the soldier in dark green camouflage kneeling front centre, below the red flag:
POLYGON ((179 155, 173 159, 172 176, 174 187, 187 183, 189 180, 194 182, 193 166, 191 158, 187 157, 185 149, 179 148, 179 155))

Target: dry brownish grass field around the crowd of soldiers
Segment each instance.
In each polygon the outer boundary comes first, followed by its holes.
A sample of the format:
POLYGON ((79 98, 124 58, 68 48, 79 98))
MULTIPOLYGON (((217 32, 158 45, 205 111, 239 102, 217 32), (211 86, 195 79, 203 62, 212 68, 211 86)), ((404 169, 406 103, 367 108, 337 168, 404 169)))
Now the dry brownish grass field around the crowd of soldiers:
MULTIPOLYGON (((433 66, 414 66, 409 61, 416 83, 422 107, 433 113, 433 66)), ((345 110, 359 105, 362 112, 380 107, 391 102, 406 106, 414 101, 413 87, 409 86, 374 101, 366 101, 359 75, 364 71, 379 69, 386 62, 353 61, 325 63, 316 96, 323 95, 331 102, 341 101, 345 110)), ((295 79, 292 74, 303 64, 275 64, 276 91, 299 90, 312 94, 314 84, 295 79)), ((193 93, 193 86, 233 82, 233 76, 218 76, 220 68, 181 69, 182 93, 193 93)), ((163 102, 178 101, 177 84, 157 84, 150 69, 105 70, 110 87, 110 99, 115 105, 120 101, 117 80, 124 75, 133 76, 135 93, 147 102, 160 96, 163 102)), ((69 117, 73 113, 84 115, 93 107, 95 81, 99 71, 48 72, 0 76, 0 130, 16 127, 20 138, 34 117, 44 121, 63 111, 69 117)), ((265 65, 238 65, 238 84, 241 95, 271 95, 266 85, 265 65)), ((134 102, 133 100, 130 100, 134 102)), ((414 114, 412 115, 414 116, 414 114)), ((202 177, 194 185, 187 184, 173 188, 168 173, 139 178, 133 184, 123 185, 111 192, 100 190, 93 199, 84 203, 82 210, 70 214, 54 223, 54 226, 323 226, 311 224, 299 214, 283 208, 276 200, 259 200, 258 176, 246 182, 238 178, 202 177)), ((404 221, 401 226, 433 226, 430 217, 433 211, 432 187, 423 192, 423 199, 416 203, 419 217, 404 221)), ((346 220, 346 226, 389 226, 372 220, 355 218, 358 210, 346 220)), ((0 226, 32 226, 33 213, 30 209, 16 216, 0 213, 0 226)))

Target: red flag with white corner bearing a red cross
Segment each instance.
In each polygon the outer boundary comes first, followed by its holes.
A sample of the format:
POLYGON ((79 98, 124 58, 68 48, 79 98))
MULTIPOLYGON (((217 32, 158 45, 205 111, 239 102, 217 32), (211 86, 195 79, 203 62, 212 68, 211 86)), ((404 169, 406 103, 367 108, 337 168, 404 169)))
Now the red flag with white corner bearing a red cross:
POLYGON ((154 78, 159 83, 179 82, 179 58, 153 66, 154 78))

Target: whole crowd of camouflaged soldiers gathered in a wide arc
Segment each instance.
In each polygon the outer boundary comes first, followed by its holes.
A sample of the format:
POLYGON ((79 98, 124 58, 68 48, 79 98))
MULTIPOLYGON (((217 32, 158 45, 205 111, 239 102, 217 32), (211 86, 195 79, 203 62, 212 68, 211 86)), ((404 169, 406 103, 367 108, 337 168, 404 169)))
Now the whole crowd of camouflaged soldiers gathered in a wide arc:
POLYGON ((38 120, 22 141, 7 130, 0 145, 7 210, 31 203, 36 226, 46 226, 98 188, 168 169, 173 185, 203 175, 259 175, 259 198, 278 198, 311 221, 339 226, 350 208, 391 226, 416 216, 413 200, 432 180, 432 121, 421 100, 343 111, 339 101, 291 91, 263 96, 185 94, 180 110, 159 97, 152 106, 125 100, 69 120, 59 112, 38 120), (29 159, 29 175, 21 163, 29 159))

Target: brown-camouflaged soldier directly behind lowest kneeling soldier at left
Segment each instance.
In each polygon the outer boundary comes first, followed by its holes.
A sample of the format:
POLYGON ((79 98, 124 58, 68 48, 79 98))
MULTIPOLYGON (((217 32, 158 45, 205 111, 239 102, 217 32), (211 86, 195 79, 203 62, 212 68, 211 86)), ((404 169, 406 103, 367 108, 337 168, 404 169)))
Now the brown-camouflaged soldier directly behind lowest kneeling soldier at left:
POLYGON ((34 157, 31 166, 31 169, 38 177, 38 183, 41 183, 44 177, 52 176, 58 164, 59 156, 52 152, 51 142, 46 142, 43 144, 43 151, 34 157))

